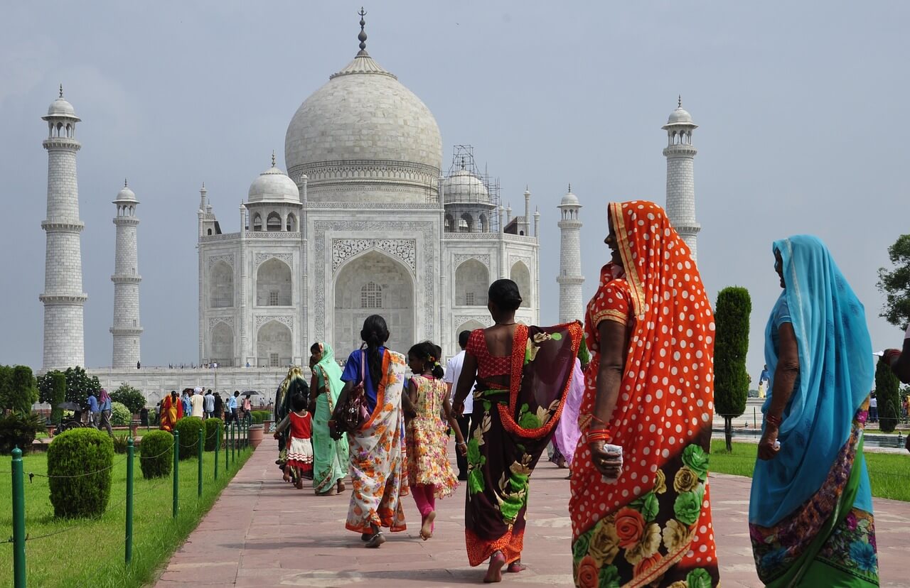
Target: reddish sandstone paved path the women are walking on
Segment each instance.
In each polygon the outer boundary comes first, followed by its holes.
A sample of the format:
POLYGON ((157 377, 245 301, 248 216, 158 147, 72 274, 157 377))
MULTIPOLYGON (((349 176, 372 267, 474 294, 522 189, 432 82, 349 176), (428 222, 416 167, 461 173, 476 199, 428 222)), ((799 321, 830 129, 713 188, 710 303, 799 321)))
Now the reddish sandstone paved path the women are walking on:
MULTIPOLYGON (((471 568, 464 549, 463 484, 437 503, 430 541, 420 540, 420 514, 407 496, 408 531, 387 534, 379 549, 365 549, 359 534, 344 530, 349 494, 319 497, 295 490, 281 481, 275 457, 267 439, 171 558, 159 588, 443 588, 481 582, 485 568, 471 568)), ((504 574, 501 585, 572 585, 565 475, 543 461, 534 471, 522 558, 529 569, 504 574)), ((760 587, 746 529, 751 480, 725 474, 710 480, 723 588, 760 587)), ((910 585, 910 503, 876 499, 875 527, 882 586, 910 585)))

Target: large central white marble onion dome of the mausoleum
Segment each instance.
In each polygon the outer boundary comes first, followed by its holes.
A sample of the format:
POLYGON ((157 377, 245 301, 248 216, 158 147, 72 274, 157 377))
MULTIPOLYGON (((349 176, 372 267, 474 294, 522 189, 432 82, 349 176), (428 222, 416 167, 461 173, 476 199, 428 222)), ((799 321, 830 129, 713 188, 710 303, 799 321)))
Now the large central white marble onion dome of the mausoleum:
POLYGON ((439 197, 440 127, 423 102, 361 49, 310 95, 285 135, 288 175, 316 202, 439 197))

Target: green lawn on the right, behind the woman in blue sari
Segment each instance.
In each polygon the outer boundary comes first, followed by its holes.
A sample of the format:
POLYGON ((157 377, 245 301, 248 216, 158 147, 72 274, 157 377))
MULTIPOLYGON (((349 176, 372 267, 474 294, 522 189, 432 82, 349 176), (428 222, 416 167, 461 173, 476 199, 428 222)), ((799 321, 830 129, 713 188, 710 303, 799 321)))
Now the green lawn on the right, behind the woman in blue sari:
MULTIPOLYGON (((755 443, 733 443, 733 453, 723 440, 711 442, 711 471, 752 477, 755 468, 755 443)), ((910 459, 903 453, 865 453, 872 495, 910 502, 910 459)))

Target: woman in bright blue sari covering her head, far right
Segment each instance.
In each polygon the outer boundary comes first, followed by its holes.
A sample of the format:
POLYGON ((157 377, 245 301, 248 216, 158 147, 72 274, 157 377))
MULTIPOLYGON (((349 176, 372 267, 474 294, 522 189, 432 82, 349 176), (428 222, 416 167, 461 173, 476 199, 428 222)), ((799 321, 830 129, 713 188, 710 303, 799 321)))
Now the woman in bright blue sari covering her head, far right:
POLYGON ((863 304, 817 237, 773 252, 784 292, 765 329, 771 386, 749 503, 758 575, 768 586, 877 586, 863 304))

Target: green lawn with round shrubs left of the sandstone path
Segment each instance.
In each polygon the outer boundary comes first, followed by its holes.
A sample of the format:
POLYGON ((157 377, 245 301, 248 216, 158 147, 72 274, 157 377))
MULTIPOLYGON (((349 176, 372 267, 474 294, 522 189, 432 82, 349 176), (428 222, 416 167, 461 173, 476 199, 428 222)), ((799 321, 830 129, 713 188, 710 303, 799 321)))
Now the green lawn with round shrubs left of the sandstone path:
MULTIPOLYGON (((50 503, 47 478, 28 473, 47 473, 47 454, 33 452, 23 457, 25 470, 25 543, 27 582, 30 586, 143 586, 167 563, 215 503, 218 494, 245 463, 251 451, 239 454, 225 471, 224 451, 218 452, 218 479, 214 480, 215 453, 203 458, 203 493, 197 497, 197 460, 180 462, 179 513, 171 518, 172 478, 146 480, 134 462, 133 559, 124 563, 126 536, 126 455, 114 455, 111 497, 98 519, 57 520, 50 503), (56 534, 51 534, 56 533, 56 534), (51 536, 44 536, 44 535, 51 536)), ((0 470, 0 538, 13 534, 12 479, 10 458, 4 456, 0 470)), ((0 585, 13 585, 13 544, 0 545, 0 585)))

